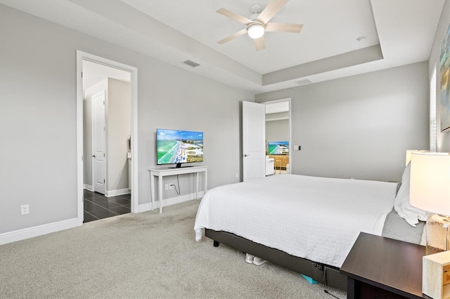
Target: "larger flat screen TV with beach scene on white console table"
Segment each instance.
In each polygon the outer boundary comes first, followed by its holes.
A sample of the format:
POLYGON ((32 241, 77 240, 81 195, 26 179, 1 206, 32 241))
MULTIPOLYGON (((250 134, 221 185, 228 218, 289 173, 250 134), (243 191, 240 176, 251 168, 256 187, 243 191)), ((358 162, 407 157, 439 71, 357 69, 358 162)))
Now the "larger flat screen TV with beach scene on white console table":
POLYGON ((158 165, 203 162, 203 132, 158 128, 156 144, 158 165))

